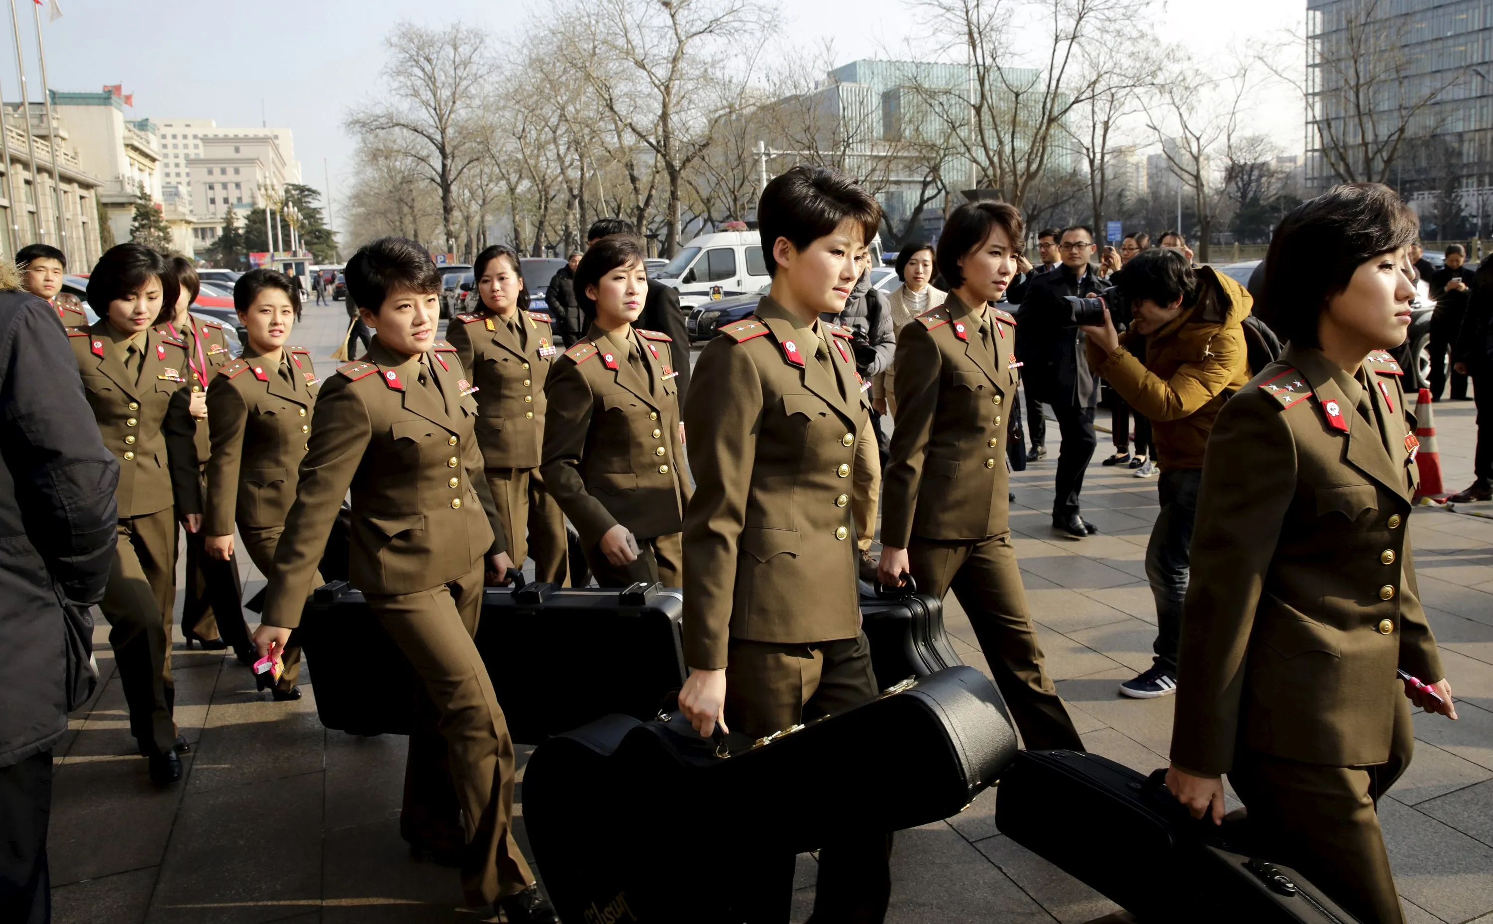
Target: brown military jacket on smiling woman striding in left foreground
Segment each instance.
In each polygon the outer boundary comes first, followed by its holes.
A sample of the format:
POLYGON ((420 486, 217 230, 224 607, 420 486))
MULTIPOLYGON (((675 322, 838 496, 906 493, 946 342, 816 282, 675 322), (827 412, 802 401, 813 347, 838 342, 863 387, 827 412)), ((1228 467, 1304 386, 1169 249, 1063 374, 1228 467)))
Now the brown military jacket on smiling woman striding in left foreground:
POLYGON ((300 622, 327 534, 352 490, 351 582, 412 594, 455 581, 503 548, 482 478, 476 400, 451 345, 403 358, 375 337, 367 360, 337 369, 317 396, 296 503, 275 546, 264 622, 300 622), (420 385, 424 367, 437 400, 420 385))

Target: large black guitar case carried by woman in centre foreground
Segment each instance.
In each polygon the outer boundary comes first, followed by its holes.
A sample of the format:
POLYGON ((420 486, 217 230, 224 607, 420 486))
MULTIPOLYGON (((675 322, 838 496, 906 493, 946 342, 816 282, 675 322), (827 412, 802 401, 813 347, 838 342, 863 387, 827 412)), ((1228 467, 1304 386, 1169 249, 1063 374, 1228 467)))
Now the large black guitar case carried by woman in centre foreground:
POLYGON ((761 887, 742 870, 763 855, 947 818, 1017 754, 1000 696, 972 667, 736 739, 700 739, 670 714, 608 717, 539 745, 524 770, 524 822, 563 920, 735 924, 738 900, 761 887), (891 742, 911 757, 888 758, 891 742), (709 849, 690 851, 700 831, 709 849))

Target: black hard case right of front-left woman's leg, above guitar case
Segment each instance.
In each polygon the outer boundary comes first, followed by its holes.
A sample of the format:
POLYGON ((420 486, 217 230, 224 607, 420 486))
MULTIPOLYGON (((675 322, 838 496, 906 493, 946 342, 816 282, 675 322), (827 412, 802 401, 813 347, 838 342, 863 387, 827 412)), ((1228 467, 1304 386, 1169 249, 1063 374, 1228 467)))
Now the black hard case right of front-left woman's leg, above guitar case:
POLYGON ((658 584, 488 588, 476 648, 509 734, 537 745, 603 715, 657 715, 684 685, 682 612, 684 594, 658 584))

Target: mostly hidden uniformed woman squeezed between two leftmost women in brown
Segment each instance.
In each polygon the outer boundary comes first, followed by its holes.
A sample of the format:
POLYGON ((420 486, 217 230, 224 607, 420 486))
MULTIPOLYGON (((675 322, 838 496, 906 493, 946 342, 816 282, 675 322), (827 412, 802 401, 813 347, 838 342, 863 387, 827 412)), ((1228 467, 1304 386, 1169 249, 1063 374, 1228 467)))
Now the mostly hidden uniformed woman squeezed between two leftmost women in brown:
MULTIPOLYGON (((233 355, 221 324, 194 318, 191 305, 202 293, 202 281, 191 260, 172 257, 172 272, 176 275, 178 297, 170 312, 161 309, 161 324, 176 339, 187 343, 187 369, 191 379, 191 413, 197 422, 197 470, 199 481, 206 487, 208 454, 208 382, 233 355)), ((182 634, 187 648, 197 642, 206 651, 221 651, 233 643, 234 652, 245 664, 254 663, 254 643, 249 642, 249 627, 243 621, 243 587, 239 584, 239 564, 230 561, 219 566, 202 551, 202 533, 187 533, 187 597, 182 602, 182 634), (227 630, 227 639, 219 628, 227 630)))

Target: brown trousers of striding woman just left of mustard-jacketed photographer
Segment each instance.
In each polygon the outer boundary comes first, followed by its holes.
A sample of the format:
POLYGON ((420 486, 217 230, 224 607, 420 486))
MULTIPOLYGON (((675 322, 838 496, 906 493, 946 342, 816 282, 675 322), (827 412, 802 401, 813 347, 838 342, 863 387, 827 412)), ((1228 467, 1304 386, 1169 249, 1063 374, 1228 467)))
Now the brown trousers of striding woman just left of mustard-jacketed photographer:
POLYGON ((1042 666, 1011 533, 972 540, 912 537, 908 560, 918 590, 939 600, 953 590, 1029 749, 1084 743, 1042 666))

